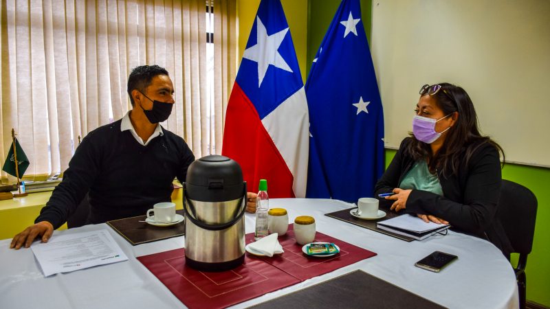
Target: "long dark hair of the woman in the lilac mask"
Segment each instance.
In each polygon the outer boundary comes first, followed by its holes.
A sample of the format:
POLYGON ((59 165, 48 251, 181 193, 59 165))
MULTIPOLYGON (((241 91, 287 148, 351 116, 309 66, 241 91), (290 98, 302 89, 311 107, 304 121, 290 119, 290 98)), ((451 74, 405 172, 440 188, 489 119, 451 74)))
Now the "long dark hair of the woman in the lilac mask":
POLYGON ((441 89, 432 95, 437 106, 441 108, 444 115, 456 111, 459 117, 454 126, 448 130, 445 142, 435 156, 429 144, 419 141, 412 134, 412 142, 408 144, 406 152, 415 161, 428 158, 430 172, 440 170, 445 177, 456 174, 463 160, 467 165, 473 153, 486 143, 492 144, 502 154, 504 163, 503 148, 489 137, 479 133, 476 110, 466 91, 448 82, 442 82, 439 85, 441 89))

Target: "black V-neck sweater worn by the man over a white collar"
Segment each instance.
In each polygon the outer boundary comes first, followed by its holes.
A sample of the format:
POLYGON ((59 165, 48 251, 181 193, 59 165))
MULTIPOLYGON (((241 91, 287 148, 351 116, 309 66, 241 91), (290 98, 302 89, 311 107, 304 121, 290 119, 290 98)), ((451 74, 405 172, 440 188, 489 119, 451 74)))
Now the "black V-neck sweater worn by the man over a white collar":
POLYGON ((174 177, 183 183, 195 160, 186 142, 163 128, 164 135, 142 146, 120 124, 101 126, 83 139, 35 222, 46 220, 57 229, 87 193, 87 223, 93 224, 144 215, 155 203, 170 201, 174 177))

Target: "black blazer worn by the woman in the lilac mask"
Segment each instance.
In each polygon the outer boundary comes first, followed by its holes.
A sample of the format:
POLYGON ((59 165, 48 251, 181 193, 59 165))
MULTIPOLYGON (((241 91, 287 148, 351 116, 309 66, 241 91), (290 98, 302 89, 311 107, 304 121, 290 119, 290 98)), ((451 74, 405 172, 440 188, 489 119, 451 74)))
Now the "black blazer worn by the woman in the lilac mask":
MULTIPOLYGON (((411 139, 401 142, 399 150, 388 169, 375 185, 375 194, 391 192, 412 168, 414 160, 405 149, 411 139)), ((503 226, 496 218, 500 197, 500 161, 498 150, 485 143, 475 150, 466 165, 463 161, 457 174, 448 177, 437 172, 443 196, 422 190, 412 190, 408 196, 405 211, 411 214, 432 214, 447 220, 459 231, 484 238, 507 254, 511 244, 503 226)), ((393 201, 381 201, 391 206, 393 201)))

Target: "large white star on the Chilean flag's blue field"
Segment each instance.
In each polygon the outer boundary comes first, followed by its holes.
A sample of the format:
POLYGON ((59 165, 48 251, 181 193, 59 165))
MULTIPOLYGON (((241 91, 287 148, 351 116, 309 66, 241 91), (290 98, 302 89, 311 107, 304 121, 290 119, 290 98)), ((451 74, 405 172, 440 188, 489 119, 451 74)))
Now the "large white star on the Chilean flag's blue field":
POLYGON ((260 88, 265 72, 270 65, 278 69, 292 72, 292 69, 287 65, 285 59, 279 54, 277 49, 283 43, 283 39, 287 35, 288 27, 285 30, 281 30, 276 34, 270 36, 267 35, 265 25, 263 25, 260 17, 256 17, 256 45, 245 49, 243 58, 258 62, 258 88, 260 88))

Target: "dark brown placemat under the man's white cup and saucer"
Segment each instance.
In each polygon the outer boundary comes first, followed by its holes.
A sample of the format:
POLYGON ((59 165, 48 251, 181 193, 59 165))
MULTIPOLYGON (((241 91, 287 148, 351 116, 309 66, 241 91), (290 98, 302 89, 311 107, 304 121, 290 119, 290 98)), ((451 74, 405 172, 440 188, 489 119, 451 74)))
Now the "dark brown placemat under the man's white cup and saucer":
MULTIPOLYGON (((176 210, 176 214, 184 216, 184 209, 176 210)), ((137 216, 112 220, 107 221, 107 225, 128 240, 133 246, 185 235, 185 221, 170 227, 155 227, 146 222, 140 222, 145 220, 145 218, 146 216, 137 216)))

